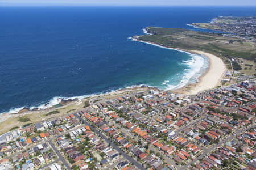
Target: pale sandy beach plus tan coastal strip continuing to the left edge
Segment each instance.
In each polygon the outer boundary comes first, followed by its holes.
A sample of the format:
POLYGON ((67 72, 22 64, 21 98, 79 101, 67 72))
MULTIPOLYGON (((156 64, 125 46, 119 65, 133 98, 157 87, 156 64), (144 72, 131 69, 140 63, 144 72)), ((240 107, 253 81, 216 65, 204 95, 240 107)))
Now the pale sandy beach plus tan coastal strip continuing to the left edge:
MULTIPOLYGON (((176 50, 178 50, 178 49, 176 49, 176 50)), ((179 49, 179 50, 182 50, 182 49, 179 49)), ((199 92, 212 89, 214 87, 217 87, 220 84, 221 78, 226 71, 226 67, 220 58, 214 56, 213 54, 205 53, 205 52, 197 51, 197 50, 192 50, 192 51, 188 51, 188 52, 183 50, 183 52, 192 53, 192 54, 200 54, 202 56, 208 57, 209 58, 209 67, 208 67, 207 71, 205 71, 205 73, 202 74, 198 78, 199 82, 188 83, 184 87, 178 88, 177 90, 166 90, 167 92, 172 92, 172 93, 181 94, 181 95, 196 95, 199 92)), ((25 111, 22 113, 13 113, 13 114, 2 113, 1 118, 0 118, 0 129, 1 129, 0 134, 6 133, 6 131, 9 131, 9 129, 11 129, 14 125, 15 126, 23 126, 23 125, 26 125, 27 123, 34 124, 36 122, 48 120, 49 118, 63 116, 64 114, 67 114, 67 112, 69 112, 69 111, 78 112, 83 108, 85 100, 90 101, 92 99, 97 99, 99 97, 110 100, 110 99, 114 99, 118 96, 131 94, 132 92, 142 92, 142 91, 148 91, 148 90, 160 90, 160 89, 158 87, 149 87, 146 85, 132 86, 132 87, 121 88, 121 89, 113 91, 113 92, 92 95, 89 97, 85 97, 84 99, 73 100, 73 101, 69 102, 68 104, 65 104, 59 108, 50 107, 50 108, 46 108, 46 109, 40 109, 38 111, 25 111), (48 112, 55 111, 55 110, 59 110, 60 113, 46 116, 46 114, 48 112), (27 116, 27 117, 31 118, 31 121, 18 122, 17 118, 20 116, 27 116)))

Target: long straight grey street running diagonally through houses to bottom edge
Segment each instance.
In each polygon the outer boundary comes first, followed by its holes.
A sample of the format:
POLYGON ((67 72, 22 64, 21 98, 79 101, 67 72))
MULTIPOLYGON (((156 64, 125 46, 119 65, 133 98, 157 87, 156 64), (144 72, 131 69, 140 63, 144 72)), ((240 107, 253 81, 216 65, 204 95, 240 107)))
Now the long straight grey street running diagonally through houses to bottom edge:
POLYGON ((83 118, 81 118, 77 113, 74 114, 79 120, 81 120, 86 126, 89 126, 90 129, 92 129, 95 133, 97 133, 102 139, 104 139, 106 142, 110 144, 115 150, 117 150, 120 154, 122 154, 129 162, 133 163, 137 168, 146 170, 144 167, 142 167, 141 164, 139 164, 136 160, 131 158, 129 155, 127 155, 123 150, 121 150, 117 145, 114 145, 113 142, 111 142, 109 139, 107 139, 103 134, 101 134, 100 131, 98 131, 96 128, 91 126, 87 121, 85 121, 83 118))

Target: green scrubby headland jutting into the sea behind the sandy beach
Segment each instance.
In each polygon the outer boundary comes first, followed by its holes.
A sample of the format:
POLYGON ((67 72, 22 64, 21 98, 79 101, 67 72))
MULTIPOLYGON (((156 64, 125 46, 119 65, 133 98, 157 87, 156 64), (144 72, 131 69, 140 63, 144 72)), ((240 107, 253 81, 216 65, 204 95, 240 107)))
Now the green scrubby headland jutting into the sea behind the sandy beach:
POLYGON ((238 57, 254 60, 256 58, 256 44, 251 46, 236 37, 224 36, 220 33, 190 31, 183 28, 147 27, 150 35, 134 36, 141 41, 152 42, 169 48, 184 50, 201 50, 212 53, 230 65, 231 58, 238 57))

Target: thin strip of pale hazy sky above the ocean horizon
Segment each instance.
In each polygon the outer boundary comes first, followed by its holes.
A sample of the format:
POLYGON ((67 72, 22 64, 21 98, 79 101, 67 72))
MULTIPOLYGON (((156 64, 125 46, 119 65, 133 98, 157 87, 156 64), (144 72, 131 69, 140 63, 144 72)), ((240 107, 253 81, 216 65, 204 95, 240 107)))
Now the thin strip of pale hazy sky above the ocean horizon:
POLYGON ((256 0, 0 0, 0 6, 256 6, 256 0))

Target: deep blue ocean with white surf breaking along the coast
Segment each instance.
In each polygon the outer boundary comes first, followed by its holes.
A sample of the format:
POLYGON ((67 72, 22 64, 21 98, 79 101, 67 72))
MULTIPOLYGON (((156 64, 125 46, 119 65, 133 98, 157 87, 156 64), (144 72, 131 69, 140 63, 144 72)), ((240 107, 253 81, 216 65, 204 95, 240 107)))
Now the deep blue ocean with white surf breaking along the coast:
POLYGON ((253 16, 256 7, 0 7, 0 113, 196 81, 207 59, 128 38, 148 26, 207 31, 186 24, 227 15, 253 16))

